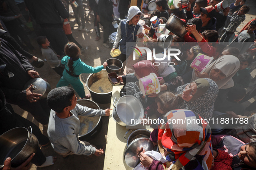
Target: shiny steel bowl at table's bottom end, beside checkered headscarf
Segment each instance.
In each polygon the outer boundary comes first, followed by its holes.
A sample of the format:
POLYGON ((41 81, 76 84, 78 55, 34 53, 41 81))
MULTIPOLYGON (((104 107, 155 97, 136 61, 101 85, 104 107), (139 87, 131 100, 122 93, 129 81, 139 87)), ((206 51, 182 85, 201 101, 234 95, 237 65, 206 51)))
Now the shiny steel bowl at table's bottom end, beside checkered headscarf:
POLYGON ((139 163, 139 154, 141 151, 152 151, 154 149, 153 142, 147 138, 134 139, 125 149, 123 153, 124 161, 129 167, 136 167, 139 163))

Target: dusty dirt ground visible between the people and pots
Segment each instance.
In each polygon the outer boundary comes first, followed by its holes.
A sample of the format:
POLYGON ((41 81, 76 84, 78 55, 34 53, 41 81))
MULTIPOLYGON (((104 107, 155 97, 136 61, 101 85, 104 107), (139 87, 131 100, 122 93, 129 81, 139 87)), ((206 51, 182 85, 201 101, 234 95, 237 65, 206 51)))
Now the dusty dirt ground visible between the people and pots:
MULTIPOLYGON (((230 1, 230 0, 229 0, 230 1)), ((234 1, 234 0, 233 0, 234 1)), ((243 25, 245 25, 250 20, 254 19, 256 16, 256 1, 255 0, 247 0, 247 5, 251 7, 251 10, 248 14, 246 14, 246 20, 237 28, 237 31, 240 31, 241 28, 243 28, 243 25)), ((71 7, 70 7, 71 9, 71 7)), ((106 48, 103 46, 103 32, 101 27, 101 39, 99 41, 94 41, 96 38, 96 33, 94 30, 94 16, 91 15, 89 17, 90 20, 87 20, 86 27, 90 30, 89 33, 78 31, 78 25, 75 22, 75 18, 72 15, 70 17, 70 25, 74 26, 74 30, 72 30, 73 37, 80 43, 86 51, 83 53, 83 55, 80 55, 79 57, 81 60, 90 66, 100 66, 103 64, 107 59, 111 58, 110 56, 110 48, 106 48)), ((36 43, 36 35, 32 34, 30 35, 30 38, 32 39, 32 44, 35 47, 34 51, 30 51, 33 55, 36 57, 39 57, 43 59, 41 51, 39 50, 39 47, 36 43)), ((49 84, 51 85, 52 89, 56 87, 58 80, 60 79, 60 76, 55 73, 53 69, 49 66, 48 63, 45 63, 45 65, 42 68, 36 68, 36 71, 39 72, 40 76, 44 79, 47 79, 49 84)), ((253 78, 256 75, 256 70, 252 72, 253 78)), ((89 74, 82 74, 80 79, 84 83, 84 88, 86 93, 89 93, 88 89, 86 88, 86 80, 89 74)), ((252 85, 254 85, 256 82, 252 82, 250 88, 252 85)), ((247 90, 250 90, 248 88, 247 90)), ((253 102, 254 99, 250 100, 246 103, 246 105, 250 104, 250 102, 253 102)), ((109 104, 99 104, 101 109, 106 109, 110 107, 109 104)), ((28 120, 35 123, 39 128, 42 130, 44 135, 47 135, 47 126, 42 126, 39 124, 35 119, 33 119, 32 115, 30 113, 27 113, 24 110, 21 110, 17 106, 13 106, 16 113, 19 113, 20 115, 24 116, 28 120)), ((88 141, 93 145, 101 145, 104 146, 107 143, 107 126, 108 126, 108 117, 102 117, 103 118, 103 126, 100 130, 100 133, 92 140, 88 141)), ((69 155, 67 158, 63 158, 61 155, 58 155, 55 153, 52 149, 52 147, 49 145, 48 148, 42 148, 42 152, 45 154, 45 156, 57 156, 57 161, 54 165, 44 168, 36 167, 34 164, 32 164, 32 167, 30 170, 103 170, 104 167, 104 155, 100 157, 96 157, 94 155, 88 157, 84 155, 69 155)), ((123 152, 123 151, 121 151, 123 152)))

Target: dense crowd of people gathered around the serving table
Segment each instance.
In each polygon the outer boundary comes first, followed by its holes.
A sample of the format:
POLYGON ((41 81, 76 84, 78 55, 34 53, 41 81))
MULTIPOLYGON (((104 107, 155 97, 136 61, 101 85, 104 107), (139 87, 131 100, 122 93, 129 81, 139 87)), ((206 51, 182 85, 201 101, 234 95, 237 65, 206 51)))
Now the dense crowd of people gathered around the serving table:
MULTIPOLYGON (((141 165, 150 170, 256 168, 256 142, 248 143, 229 135, 228 127, 216 132, 211 129, 209 122, 181 125, 168 121, 186 120, 188 117, 211 120, 219 113, 228 119, 254 118, 247 115, 256 109, 255 102, 246 108, 241 103, 253 98, 256 92, 256 86, 248 93, 245 90, 250 85, 250 72, 254 69, 250 65, 256 61, 256 20, 250 21, 235 35, 237 27, 246 18, 245 14, 251 10, 246 0, 235 0, 220 12, 216 11, 215 6, 221 0, 189 0, 185 7, 179 4, 177 9, 170 9, 166 0, 156 0, 156 9, 150 15, 143 0, 88 2, 94 12, 95 41, 100 40, 100 25, 103 27, 103 46, 106 48, 111 45, 109 36, 116 32, 111 51, 119 48, 121 54, 117 58, 123 63, 129 63, 129 58, 133 57, 128 42, 150 48, 157 58, 167 53, 166 49, 157 47, 158 28, 140 25, 142 17, 150 19, 157 16, 165 24, 173 13, 188 23, 185 36, 169 33, 172 42, 168 48, 180 50, 181 53, 177 55, 180 60, 172 57, 169 61, 166 57, 161 61, 172 62, 173 66, 155 65, 156 58, 140 60, 143 56, 139 56, 137 63, 131 68, 127 67, 124 75, 119 76, 124 88, 127 88, 126 94, 134 95, 141 101, 148 118, 165 121, 161 125, 150 124, 154 128, 150 139, 154 145, 158 145, 165 162, 154 160, 141 151, 141 165), (120 23, 114 28, 112 22, 119 18, 120 23), (212 63, 202 72, 190 67, 198 54, 213 57, 212 63), (163 78, 160 81, 161 92, 143 95, 136 82, 152 72, 163 78)), ((0 134, 14 127, 32 126, 39 145, 44 147, 51 144, 63 157, 70 154, 104 154, 102 148, 78 139, 78 115, 109 116, 110 109, 82 107, 76 102, 75 92, 80 98, 90 99, 91 95, 85 94, 79 76, 99 72, 106 68, 107 63, 94 68, 79 58, 79 54, 85 50, 72 36, 69 12, 61 0, 24 0, 24 4, 29 11, 42 56, 60 79, 56 88, 44 99, 41 99, 41 94, 33 93, 32 85, 24 89, 26 82, 40 77, 28 59, 35 62, 39 59, 27 52, 34 47, 23 28, 26 18, 20 15, 19 7, 14 0, 0 0, 0 134), (48 137, 42 135, 36 125, 16 114, 10 104, 18 105, 31 113, 39 123, 48 125, 48 137)), ((71 7, 78 31, 88 32, 82 4, 83 0, 76 0, 71 7)), ((253 136, 251 139, 256 141, 253 136)), ((38 147, 36 154, 32 154, 28 160, 38 167, 46 167, 54 164, 56 157, 45 157, 38 147)), ((4 168, 9 166, 10 158, 7 158, 4 168)), ((23 166, 28 167, 26 164, 23 166)))

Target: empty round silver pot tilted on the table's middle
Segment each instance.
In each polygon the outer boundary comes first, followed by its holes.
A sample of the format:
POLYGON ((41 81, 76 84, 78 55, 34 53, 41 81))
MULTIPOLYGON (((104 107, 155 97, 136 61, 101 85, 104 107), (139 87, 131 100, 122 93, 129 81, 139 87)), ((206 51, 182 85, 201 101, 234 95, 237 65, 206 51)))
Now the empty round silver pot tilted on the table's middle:
POLYGON ((124 95, 117 101, 116 105, 115 101, 117 98, 114 100, 115 109, 112 116, 121 126, 136 126, 138 124, 136 120, 138 122, 140 118, 143 118, 144 109, 139 99, 132 95, 124 95))

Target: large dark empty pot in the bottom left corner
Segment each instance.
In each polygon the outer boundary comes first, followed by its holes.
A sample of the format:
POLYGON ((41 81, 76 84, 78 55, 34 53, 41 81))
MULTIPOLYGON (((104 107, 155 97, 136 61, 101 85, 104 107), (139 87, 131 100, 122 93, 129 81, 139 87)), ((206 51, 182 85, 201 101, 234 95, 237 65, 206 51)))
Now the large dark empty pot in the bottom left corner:
POLYGON ((18 167, 29 156, 36 153, 38 148, 38 140, 32 134, 32 128, 16 127, 8 130, 0 136, 0 165, 7 157, 11 157, 11 166, 18 167), (31 132, 29 132, 29 130, 31 132))

